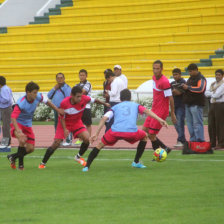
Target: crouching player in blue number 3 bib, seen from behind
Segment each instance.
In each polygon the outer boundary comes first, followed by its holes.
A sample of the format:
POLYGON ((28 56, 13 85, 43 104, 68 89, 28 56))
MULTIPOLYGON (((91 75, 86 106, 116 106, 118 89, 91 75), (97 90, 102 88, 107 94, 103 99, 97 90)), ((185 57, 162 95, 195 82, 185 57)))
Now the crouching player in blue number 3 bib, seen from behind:
POLYGON ((121 103, 113 106, 111 110, 103 116, 99 123, 96 134, 90 138, 91 142, 97 140, 105 122, 114 117, 114 123, 112 124, 111 129, 109 129, 104 134, 99 144, 90 152, 87 164, 83 168, 83 172, 89 170, 91 163, 105 145, 114 145, 120 139, 123 139, 131 144, 139 141, 132 167, 146 168, 146 166, 139 162, 139 159, 141 158, 145 150, 147 135, 143 130, 139 130, 137 128, 136 121, 138 118, 138 113, 144 113, 148 116, 153 117, 154 119, 158 120, 158 122, 160 122, 160 124, 163 126, 167 127, 167 123, 145 107, 137 103, 130 102, 131 92, 128 89, 124 89, 121 91, 120 100, 121 103))

